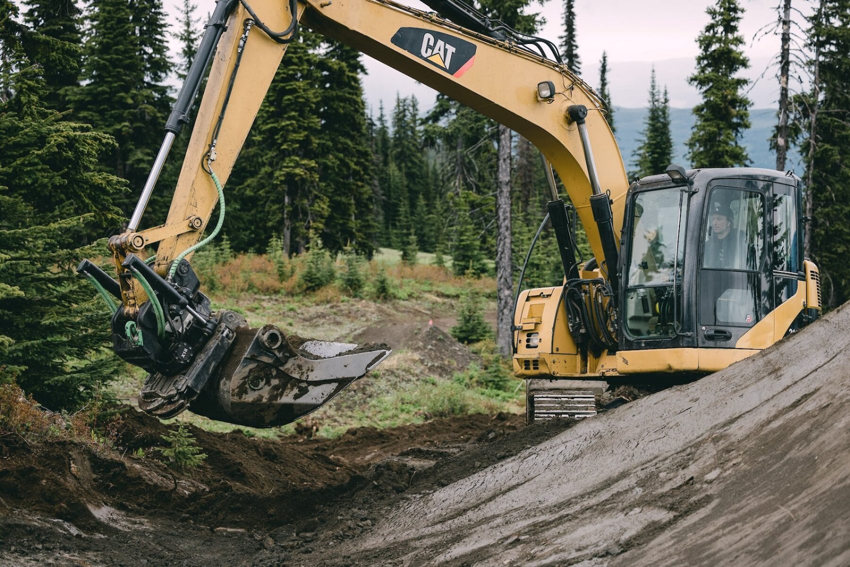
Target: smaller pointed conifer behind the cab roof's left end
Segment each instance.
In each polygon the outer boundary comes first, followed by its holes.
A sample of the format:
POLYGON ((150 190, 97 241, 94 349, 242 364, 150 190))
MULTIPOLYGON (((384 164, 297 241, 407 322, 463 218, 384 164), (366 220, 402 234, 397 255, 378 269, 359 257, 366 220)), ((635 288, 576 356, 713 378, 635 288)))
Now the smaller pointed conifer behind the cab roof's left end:
POLYGON ((670 131, 670 100, 667 89, 662 95, 655 82, 655 67, 649 81, 649 109, 641 132, 643 142, 634 152, 634 175, 663 173, 672 162, 673 139, 670 131))

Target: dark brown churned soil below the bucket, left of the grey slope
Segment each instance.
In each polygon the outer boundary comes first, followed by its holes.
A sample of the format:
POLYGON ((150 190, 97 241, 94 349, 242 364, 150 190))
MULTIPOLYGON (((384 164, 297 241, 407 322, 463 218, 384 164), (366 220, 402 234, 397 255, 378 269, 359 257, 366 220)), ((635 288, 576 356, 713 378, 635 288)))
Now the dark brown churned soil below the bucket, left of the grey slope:
POLYGON ((337 521, 343 496, 371 494, 371 487, 395 495, 387 488, 393 471, 409 463, 387 465, 388 455, 443 458, 522 427, 519 415, 468 415, 281 440, 190 427, 208 456, 189 473, 156 458, 171 427, 129 410, 116 427, 119 450, 71 441, 8 448, 0 461, 0 564, 241 564, 277 546, 270 533, 292 526, 309 533, 337 521))

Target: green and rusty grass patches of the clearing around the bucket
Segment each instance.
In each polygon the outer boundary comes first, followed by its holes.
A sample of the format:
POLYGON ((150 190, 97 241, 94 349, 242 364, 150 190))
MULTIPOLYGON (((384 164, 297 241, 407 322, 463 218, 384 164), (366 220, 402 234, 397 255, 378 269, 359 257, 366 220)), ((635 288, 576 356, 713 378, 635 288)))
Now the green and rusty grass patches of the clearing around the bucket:
MULTIPOLYGON (((433 254, 426 252, 417 255, 415 266, 405 266, 400 259, 398 250, 379 249, 374 260, 364 262, 362 297, 344 295, 336 283, 312 293, 303 292, 298 283, 303 264, 298 258, 285 260, 284 269, 279 271, 265 255, 233 256, 212 247, 206 255, 198 255, 197 269, 201 289, 210 295, 213 309, 239 312, 252 327, 275 324, 287 334, 327 341, 347 341, 360 329, 380 325, 388 317, 398 318, 399 312, 454 313, 456 299, 470 289, 485 301, 495 298, 492 278, 456 277, 448 267, 433 266, 433 254), (370 295, 380 272, 387 273, 392 283, 392 296, 383 301, 370 295)), ((445 261, 450 265, 450 258, 445 257, 445 261)), ((337 260, 335 269, 342 272, 342 259, 337 260)), ((491 369, 489 354, 478 354, 484 367, 491 369)), ((335 437, 350 427, 395 427, 433 417, 522 410, 524 397, 519 390, 511 392, 513 386, 506 387, 507 392, 488 389, 491 371, 488 374, 471 368, 454 379, 435 378, 425 373, 417 356, 394 353, 380 369, 314 412, 311 418, 320 426, 319 435, 335 437)), ((144 370, 127 365, 126 374, 113 383, 112 392, 116 398, 129 401, 138 396, 144 376, 144 370)), ((276 438, 294 432, 292 425, 236 427, 188 411, 168 422, 173 421, 213 432, 239 429, 247 437, 276 438)))

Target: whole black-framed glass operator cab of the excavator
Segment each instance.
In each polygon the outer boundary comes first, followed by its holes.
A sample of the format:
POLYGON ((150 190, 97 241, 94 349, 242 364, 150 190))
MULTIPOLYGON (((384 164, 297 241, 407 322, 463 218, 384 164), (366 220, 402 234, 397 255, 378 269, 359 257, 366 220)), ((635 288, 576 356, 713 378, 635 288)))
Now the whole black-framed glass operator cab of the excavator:
POLYGON ((694 169, 678 181, 633 183, 620 349, 752 346, 741 338, 806 287, 801 211, 801 180, 771 169, 694 169))

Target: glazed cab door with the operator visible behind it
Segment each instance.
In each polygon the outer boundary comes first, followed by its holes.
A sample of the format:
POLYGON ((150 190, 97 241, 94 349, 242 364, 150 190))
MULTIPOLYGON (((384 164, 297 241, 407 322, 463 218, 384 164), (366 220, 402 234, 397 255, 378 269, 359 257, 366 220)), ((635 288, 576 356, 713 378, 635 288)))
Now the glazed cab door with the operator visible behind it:
POLYGON ((757 180, 716 180, 708 186, 700 237, 698 346, 734 348, 773 308, 767 238, 772 186, 757 180))

